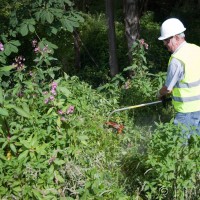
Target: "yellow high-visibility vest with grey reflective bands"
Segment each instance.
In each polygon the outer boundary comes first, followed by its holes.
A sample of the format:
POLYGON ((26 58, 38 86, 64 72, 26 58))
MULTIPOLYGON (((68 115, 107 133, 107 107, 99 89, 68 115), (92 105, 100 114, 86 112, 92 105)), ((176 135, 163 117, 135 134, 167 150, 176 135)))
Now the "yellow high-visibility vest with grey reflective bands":
POLYGON ((170 59, 184 66, 184 78, 172 90, 172 104, 177 112, 200 111, 200 47, 186 43, 170 59))

